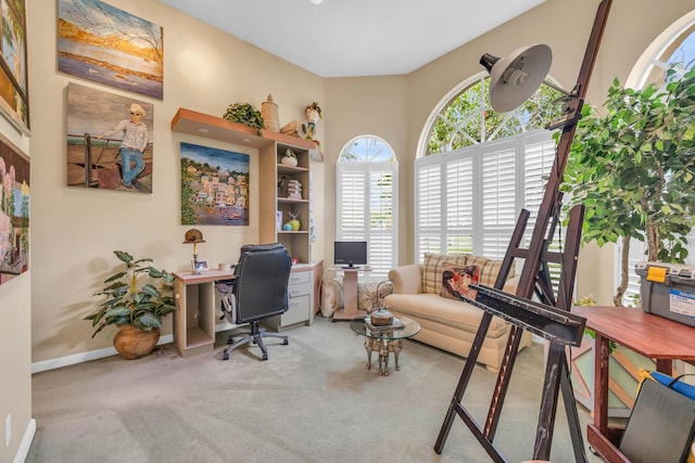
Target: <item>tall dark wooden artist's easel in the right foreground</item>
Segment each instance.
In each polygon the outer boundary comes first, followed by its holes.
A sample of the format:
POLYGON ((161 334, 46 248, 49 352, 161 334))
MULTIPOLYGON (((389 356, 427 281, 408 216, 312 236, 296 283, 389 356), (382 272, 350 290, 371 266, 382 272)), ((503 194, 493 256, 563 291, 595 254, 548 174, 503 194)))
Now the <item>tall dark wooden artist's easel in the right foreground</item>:
MULTIPOLYGON (((549 127, 553 129, 561 127, 563 134, 557 146, 555 162, 543 195, 543 201, 539 208, 539 216, 533 228, 530 245, 528 249, 522 249, 520 247, 521 239, 529 219, 529 211, 522 210, 519 215, 509 246, 507 247, 507 252, 503 259, 500 274, 495 281, 494 288, 502 290, 509 274, 509 270, 511 269, 514 259, 525 259, 519 285, 516 292, 516 296, 518 297, 510 298, 507 297, 508 295, 505 296, 505 293, 484 287, 481 287, 482 291, 479 291, 476 305, 483 309, 484 313, 471 346, 470 353, 466 360, 464 371, 458 381, 458 385, 446 411, 444 423, 442 424, 437 442, 434 443, 434 451, 437 453, 442 452, 452 424, 454 423, 454 417, 458 415, 476 436, 478 441, 483 446, 492 460, 495 462, 505 462, 500 451, 494 447, 493 439, 500 415, 502 413, 502 406, 509 385, 509 380, 511 377, 514 362, 519 350, 521 334, 523 330, 529 330, 551 340, 545 380, 543 384, 541 410, 536 427, 535 446, 533 449, 533 459, 547 460, 549 458, 558 393, 561 387, 563 399, 565 409, 567 410, 568 424, 570 427, 574 459, 578 462, 586 462, 579 416, 577 414, 577 404, 574 402, 574 395, 569 381, 569 370, 567 358, 565 356, 565 346, 579 345, 574 343, 580 343, 581 339, 572 339, 572 336, 561 335, 563 331, 566 329, 573 334, 580 325, 582 326, 581 331, 583 331, 581 320, 576 320, 569 317, 572 288, 574 286, 574 275, 577 271, 577 257, 579 255, 579 245, 581 240, 581 227, 583 219, 582 206, 576 206, 570 211, 565 250, 552 253, 548 250, 548 245, 554 236, 555 228, 559 220, 558 215, 561 198, 559 184, 563 180, 563 172, 569 157, 577 121, 581 117, 581 108, 586 94, 589 79, 598 53, 598 46, 606 26, 610 4, 611 0, 602 0, 598 5, 589 43, 586 46, 584 60, 582 62, 582 67, 579 73, 579 78, 572 93, 570 94, 570 100, 565 115, 559 120, 553 123, 549 127), (549 274, 547 271, 548 262, 557 262, 561 265, 560 284, 557 297, 555 297, 552 290, 549 274), (538 303, 530 301, 533 295, 538 296, 541 300, 540 305, 538 303), (525 299, 527 299, 526 304, 525 299), (557 311, 558 309, 559 312, 557 311), (554 320, 558 317, 561 319, 561 313, 566 313, 568 316, 566 320, 567 324, 563 324, 561 320, 560 322, 554 320), (481 427, 463 407, 462 400, 473 372, 478 355, 482 348, 493 314, 505 318, 514 323, 514 325, 509 333, 504 358, 497 375, 497 382, 490 403, 488 417, 484 426, 481 427), (560 333, 559 335, 558 332, 560 333)), ((585 320, 583 320, 583 322, 585 323, 585 320)))

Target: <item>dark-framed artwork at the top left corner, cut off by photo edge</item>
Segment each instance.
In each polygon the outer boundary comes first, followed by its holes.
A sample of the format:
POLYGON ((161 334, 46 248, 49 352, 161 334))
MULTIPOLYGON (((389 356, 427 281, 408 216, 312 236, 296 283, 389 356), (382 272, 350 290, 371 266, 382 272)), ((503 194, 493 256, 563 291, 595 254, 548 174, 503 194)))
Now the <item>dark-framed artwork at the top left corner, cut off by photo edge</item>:
POLYGON ((29 88, 26 70, 26 2, 0 0, 0 113, 17 130, 29 134, 29 88))

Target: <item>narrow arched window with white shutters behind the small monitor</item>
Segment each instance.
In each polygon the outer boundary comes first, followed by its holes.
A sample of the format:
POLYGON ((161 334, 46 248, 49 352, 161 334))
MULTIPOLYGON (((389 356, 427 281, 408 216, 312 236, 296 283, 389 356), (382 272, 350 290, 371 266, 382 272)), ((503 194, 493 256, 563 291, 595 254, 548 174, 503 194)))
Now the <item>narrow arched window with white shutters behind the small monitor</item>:
POLYGON ((370 276, 387 278, 397 265, 397 162, 375 136, 352 139, 337 165, 337 240, 367 241, 370 276))

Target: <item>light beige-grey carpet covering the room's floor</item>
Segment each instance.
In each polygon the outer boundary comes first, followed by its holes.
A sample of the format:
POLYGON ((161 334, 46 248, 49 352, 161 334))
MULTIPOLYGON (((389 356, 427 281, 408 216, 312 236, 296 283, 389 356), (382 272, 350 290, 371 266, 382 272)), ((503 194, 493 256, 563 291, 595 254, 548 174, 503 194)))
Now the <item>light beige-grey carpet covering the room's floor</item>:
MULTIPOLYGON (((37 373, 37 432, 27 462, 489 462, 456 419, 433 450, 465 359, 406 340, 401 371, 365 369, 364 338, 349 323, 317 318, 220 360, 182 358, 173 345, 37 373)), ((509 462, 531 460, 543 383, 543 347, 517 357, 494 445, 509 462)), ((478 365, 463 403, 485 420, 496 375, 478 365)), ((578 406, 579 407, 579 406, 578 406)), ((580 407, 582 432, 589 414, 580 407)), ((590 462, 601 461, 585 443, 590 462)), ((559 401, 551 460, 573 462, 559 401)))

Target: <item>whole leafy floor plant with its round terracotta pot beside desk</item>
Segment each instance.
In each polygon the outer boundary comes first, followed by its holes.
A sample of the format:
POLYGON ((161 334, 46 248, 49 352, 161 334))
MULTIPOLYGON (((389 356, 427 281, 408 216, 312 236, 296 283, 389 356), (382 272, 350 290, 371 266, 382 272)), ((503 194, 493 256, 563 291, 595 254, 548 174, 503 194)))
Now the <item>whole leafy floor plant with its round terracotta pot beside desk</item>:
POLYGON ((104 281, 104 288, 94 296, 105 299, 85 320, 91 320, 96 327, 91 337, 108 325, 118 326, 115 349, 126 359, 138 359, 152 351, 160 339, 163 318, 176 310, 174 275, 147 265, 153 261, 150 258, 135 260, 126 252, 113 253, 125 269, 104 281))

